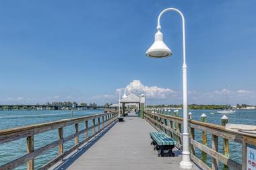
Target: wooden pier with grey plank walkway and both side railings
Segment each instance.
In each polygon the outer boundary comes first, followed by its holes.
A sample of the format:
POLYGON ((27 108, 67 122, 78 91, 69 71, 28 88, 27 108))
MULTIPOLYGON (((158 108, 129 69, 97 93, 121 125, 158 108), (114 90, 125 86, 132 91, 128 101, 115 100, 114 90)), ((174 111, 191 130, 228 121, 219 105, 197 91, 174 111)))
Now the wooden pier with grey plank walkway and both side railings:
MULTIPOLYGON (((124 122, 117 122, 117 112, 110 112, 1 130, 0 144, 26 138, 27 154, 1 165, 0 170, 15 169, 24 163, 27 163, 28 170, 33 170, 36 167, 34 159, 56 147, 59 156, 36 169, 180 169, 183 118, 152 110, 144 110, 141 114, 139 118, 131 112, 124 118, 124 122), (144 119, 141 118, 141 114, 144 119), (85 124, 85 128, 79 128, 79 124, 85 124), (66 126, 73 126, 75 133, 64 136, 66 126), (35 150, 34 136, 51 130, 58 130, 56 135, 59 140, 35 150), (158 157, 157 151, 153 150, 150 144, 150 132, 157 130, 177 140, 175 157, 158 157), (90 131, 92 133, 89 133, 90 131), (82 134, 86 134, 86 138, 79 140, 82 134), (75 139, 73 147, 64 151, 63 144, 73 139, 75 139)), ((220 163, 230 169, 246 169, 247 144, 256 145, 255 135, 232 132, 225 126, 194 120, 189 120, 189 130, 191 159, 195 163, 193 170, 220 169, 220 163), (195 130, 203 132, 201 133, 203 142, 195 139, 195 130), (205 144, 205 140, 209 140, 207 134, 212 136, 212 146, 205 144), (224 153, 218 151, 220 140, 225 141, 224 153), (241 144, 241 155, 243 155, 241 163, 229 157, 228 141, 241 144), (212 159, 211 165, 195 154, 196 149, 205 157, 212 159)))

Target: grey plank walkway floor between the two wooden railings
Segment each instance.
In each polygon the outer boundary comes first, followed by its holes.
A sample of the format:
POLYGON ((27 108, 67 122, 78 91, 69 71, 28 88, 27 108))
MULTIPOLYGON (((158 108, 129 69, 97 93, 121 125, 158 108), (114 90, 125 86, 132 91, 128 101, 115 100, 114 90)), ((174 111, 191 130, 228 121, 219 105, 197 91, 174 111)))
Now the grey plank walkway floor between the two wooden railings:
MULTIPOLYGON (((55 169, 179 169, 181 156, 158 157, 153 150, 150 132, 156 130, 146 120, 134 112, 124 120, 117 122, 82 155, 67 159, 55 169)), ((181 155, 178 150, 174 153, 181 155)), ((199 168, 194 165, 193 169, 199 168)))

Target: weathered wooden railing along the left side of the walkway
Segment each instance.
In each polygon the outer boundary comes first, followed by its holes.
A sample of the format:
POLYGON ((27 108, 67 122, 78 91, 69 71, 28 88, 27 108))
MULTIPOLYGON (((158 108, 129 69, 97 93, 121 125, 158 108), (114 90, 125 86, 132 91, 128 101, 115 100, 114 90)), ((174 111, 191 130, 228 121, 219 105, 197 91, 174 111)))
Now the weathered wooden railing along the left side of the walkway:
POLYGON ((49 163, 46 163, 44 166, 39 169, 49 169, 49 167, 53 166, 58 161, 63 160, 64 157, 75 151, 79 146, 82 146, 85 142, 88 142, 91 138, 96 136, 99 132, 101 132, 110 124, 113 124, 118 118, 117 112, 111 112, 106 114, 94 114, 92 116, 84 116, 80 118, 73 118, 68 120, 60 120, 56 122, 48 122, 43 124, 34 124, 30 126, 24 126, 19 128, 12 128, 8 130, 0 131, 0 144, 4 144, 6 142, 11 142, 13 140, 18 140, 20 138, 26 138, 27 140, 27 154, 6 163, 5 165, 1 165, 0 170, 5 169, 14 169, 15 167, 19 167, 24 163, 27 163, 27 169, 34 169, 34 159, 39 155, 42 155, 46 151, 49 151, 51 148, 59 147, 59 156, 55 157, 55 159, 51 160, 49 163), (98 120, 98 121, 96 121, 98 120), (92 126, 89 126, 88 122, 92 121, 92 126), (96 124, 97 122, 97 124, 96 124), (79 130, 79 123, 84 123, 85 127, 83 130, 79 130), (67 137, 63 137, 63 128, 66 126, 74 125, 75 133, 71 134, 67 137), (96 128, 98 127, 98 128, 96 128), (58 129, 59 140, 55 142, 51 142, 50 144, 46 144, 36 150, 34 150, 34 135, 40 134, 42 132, 47 132, 50 130, 58 129), (89 135, 89 130, 92 130, 92 134, 89 135), (79 135, 86 134, 86 138, 79 142, 79 135), (63 150, 63 144, 69 140, 75 138, 75 144, 68 151, 63 150))

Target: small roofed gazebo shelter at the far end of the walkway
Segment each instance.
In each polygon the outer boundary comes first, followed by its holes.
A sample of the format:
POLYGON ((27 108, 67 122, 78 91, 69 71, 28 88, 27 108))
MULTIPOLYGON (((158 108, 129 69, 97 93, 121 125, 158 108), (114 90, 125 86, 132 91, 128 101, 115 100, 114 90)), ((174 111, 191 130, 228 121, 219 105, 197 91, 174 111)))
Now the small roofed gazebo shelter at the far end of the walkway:
POLYGON ((120 103, 122 103, 122 109, 123 109, 123 116, 125 113, 125 103, 138 103, 139 104, 139 115, 141 118, 144 118, 144 103, 145 103, 145 95, 139 95, 139 97, 133 93, 130 93, 127 95, 127 97, 120 100, 120 103))

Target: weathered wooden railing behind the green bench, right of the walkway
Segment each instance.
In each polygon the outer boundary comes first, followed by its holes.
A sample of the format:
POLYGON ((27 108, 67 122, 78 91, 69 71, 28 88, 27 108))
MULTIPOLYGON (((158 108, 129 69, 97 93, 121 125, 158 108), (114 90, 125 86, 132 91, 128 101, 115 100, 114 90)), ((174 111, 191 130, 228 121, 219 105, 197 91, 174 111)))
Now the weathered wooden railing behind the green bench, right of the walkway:
MULTIPOLYGON (((170 134, 172 138, 177 138, 178 148, 182 148, 182 133, 181 126, 183 124, 183 118, 169 116, 164 114, 152 113, 150 110, 144 112, 144 118, 147 120, 154 128, 161 130, 170 134), (176 128, 175 128, 176 127, 176 128)), ((226 130, 225 126, 220 126, 216 124, 210 124, 205 122, 199 122, 195 120, 189 120, 189 134, 190 134, 190 151, 191 159, 199 165, 202 169, 219 169, 219 162, 223 163, 225 167, 230 169, 246 169, 247 165, 247 144, 256 145, 256 136, 253 134, 244 134, 241 132, 234 132, 232 130, 226 130), (212 135, 212 147, 208 147, 206 144, 202 144, 195 140, 195 130, 199 130, 204 134, 212 135), (230 159, 227 155, 218 152, 219 144, 218 138, 223 138, 223 150, 227 150, 228 140, 238 142, 242 145, 242 164, 230 159), (208 166, 205 161, 202 161, 195 156, 195 148, 201 150, 202 155, 207 154, 212 158, 212 166, 208 166)), ((202 133, 202 134, 203 134, 202 133)), ((203 136, 202 136, 203 137, 203 136)))

